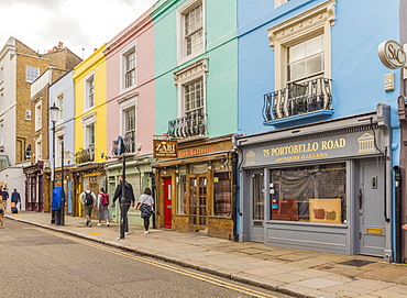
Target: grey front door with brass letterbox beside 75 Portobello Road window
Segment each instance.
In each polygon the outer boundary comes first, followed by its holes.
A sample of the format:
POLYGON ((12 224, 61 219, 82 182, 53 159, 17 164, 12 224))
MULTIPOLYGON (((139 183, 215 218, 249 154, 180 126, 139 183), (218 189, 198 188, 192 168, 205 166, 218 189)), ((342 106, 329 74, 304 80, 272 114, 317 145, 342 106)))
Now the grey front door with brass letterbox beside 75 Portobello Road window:
POLYGON ((385 250, 383 161, 361 163, 359 189, 360 254, 383 256, 385 250))

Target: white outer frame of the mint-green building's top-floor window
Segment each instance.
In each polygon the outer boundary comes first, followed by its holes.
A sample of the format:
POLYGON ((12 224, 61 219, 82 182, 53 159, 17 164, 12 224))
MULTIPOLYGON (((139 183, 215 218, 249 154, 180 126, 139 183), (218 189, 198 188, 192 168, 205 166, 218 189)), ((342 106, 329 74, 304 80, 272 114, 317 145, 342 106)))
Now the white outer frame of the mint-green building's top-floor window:
POLYGON ((205 53, 206 47, 206 26, 205 26, 205 0, 190 0, 185 2, 177 9, 177 48, 178 48, 178 65, 184 64, 205 53), (186 41, 185 41, 185 15, 198 5, 202 7, 201 22, 202 22, 202 46, 191 54, 186 53, 186 41))

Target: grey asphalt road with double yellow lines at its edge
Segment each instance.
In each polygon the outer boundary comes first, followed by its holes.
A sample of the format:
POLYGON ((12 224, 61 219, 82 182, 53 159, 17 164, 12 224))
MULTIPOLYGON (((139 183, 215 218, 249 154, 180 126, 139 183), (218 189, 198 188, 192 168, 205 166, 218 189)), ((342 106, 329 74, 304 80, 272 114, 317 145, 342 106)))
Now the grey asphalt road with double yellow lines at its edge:
POLYGON ((47 229, 6 224, 0 297, 289 297, 47 229))

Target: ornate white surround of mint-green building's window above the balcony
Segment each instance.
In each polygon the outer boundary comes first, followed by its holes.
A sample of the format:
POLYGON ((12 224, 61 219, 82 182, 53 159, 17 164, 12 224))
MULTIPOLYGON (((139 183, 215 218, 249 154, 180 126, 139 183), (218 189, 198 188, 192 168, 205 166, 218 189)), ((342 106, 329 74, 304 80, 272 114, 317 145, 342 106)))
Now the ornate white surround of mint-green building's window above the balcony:
POLYGON ((204 114, 207 113, 207 59, 200 59, 176 73, 174 73, 175 85, 178 87, 178 118, 186 115, 184 87, 198 79, 202 79, 204 114))

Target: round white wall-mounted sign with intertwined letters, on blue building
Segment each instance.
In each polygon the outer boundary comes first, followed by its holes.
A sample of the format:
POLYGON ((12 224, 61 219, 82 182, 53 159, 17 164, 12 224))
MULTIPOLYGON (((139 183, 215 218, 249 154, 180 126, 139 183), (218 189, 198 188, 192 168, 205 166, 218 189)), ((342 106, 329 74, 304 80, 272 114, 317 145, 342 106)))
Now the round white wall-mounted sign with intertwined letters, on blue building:
POLYGON ((378 57, 381 62, 391 69, 402 68, 406 64, 406 52, 395 41, 385 41, 378 45, 378 57))

